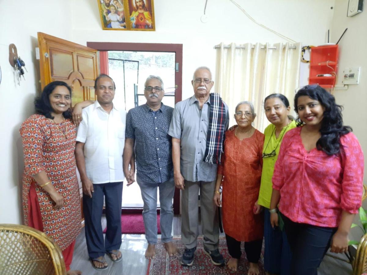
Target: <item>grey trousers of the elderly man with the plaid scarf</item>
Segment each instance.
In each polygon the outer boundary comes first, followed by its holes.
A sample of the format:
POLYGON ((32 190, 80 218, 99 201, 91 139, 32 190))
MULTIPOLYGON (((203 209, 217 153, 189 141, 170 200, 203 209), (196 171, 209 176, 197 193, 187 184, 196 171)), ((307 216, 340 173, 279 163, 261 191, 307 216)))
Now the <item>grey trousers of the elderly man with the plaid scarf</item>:
POLYGON ((215 181, 185 180, 185 189, 181 190, 182 243, 186 249, 197 245, 199 235, 199 189, 201 229, 204 239, 203 245, 208 250, 218 249, 219 224, 217 206, 214 204, 215 181))

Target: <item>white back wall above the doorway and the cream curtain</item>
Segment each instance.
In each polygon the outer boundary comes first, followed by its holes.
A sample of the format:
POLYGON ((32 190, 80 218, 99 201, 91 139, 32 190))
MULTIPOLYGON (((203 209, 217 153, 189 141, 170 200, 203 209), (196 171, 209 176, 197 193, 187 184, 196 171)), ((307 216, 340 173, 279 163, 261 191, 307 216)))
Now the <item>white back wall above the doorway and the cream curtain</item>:
MULTIPOLYGON (((310 45, 325 42, 333 17, 334 0, 236 2, 265 26, 310 45)), ((156 0, 154 5, 156 32, 138 32, 102 30, 95 0, 77 1, 73 4, 73 41, 83 45, 87 41, 183 44, 182 99, 193 94, 191 79, 196 67, 208 66, 215 72, 214 45, 285 41, 256 25, 229 0, 208 1, 207 23, 200 21, 205 0, 156 0)))

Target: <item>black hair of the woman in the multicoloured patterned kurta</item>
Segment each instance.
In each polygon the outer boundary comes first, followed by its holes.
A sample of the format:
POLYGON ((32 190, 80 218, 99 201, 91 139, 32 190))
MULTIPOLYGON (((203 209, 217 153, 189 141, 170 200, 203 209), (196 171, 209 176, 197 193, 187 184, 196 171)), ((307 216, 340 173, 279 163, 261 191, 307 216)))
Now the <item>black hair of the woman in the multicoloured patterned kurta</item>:
MULTIPOLYGON (((54 119, 54 117, 51 115, 52 107, 50 104, 50 94, 57 86, 65 86, 68 88, 70 96, 71 96, 71 88, 68 84, 66 84, 63 81, 52 81, 51 83, 48 83, 46 87, 43 88, 42 94, 34 99, 34 107, 36 108, 37 114, 42 114, 47 118, 54 119)), ((70 109, 62 113, 63 117, 65 118, 71 118, 71 111, 70 109)))

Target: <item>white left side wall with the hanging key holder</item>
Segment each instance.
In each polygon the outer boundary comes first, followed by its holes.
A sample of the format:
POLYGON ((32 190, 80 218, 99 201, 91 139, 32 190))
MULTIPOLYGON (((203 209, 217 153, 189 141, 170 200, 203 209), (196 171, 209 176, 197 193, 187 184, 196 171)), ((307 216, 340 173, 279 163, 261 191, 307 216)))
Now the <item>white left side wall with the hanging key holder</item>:
POLYGON ((34 54, 37 32, 71 39, 71 21, 67 16, 57 16, 67 15, 69 10, 69 1, 19 0, 16 6, 0 2, 0 223, 22 223, 23 153, 19 126, 34 113, 33 100, 40 89, 39 61, 34 54), (11 43, 17 47, 28 70, 20 86, 15 83, 14 69, 8 61, 11 43))

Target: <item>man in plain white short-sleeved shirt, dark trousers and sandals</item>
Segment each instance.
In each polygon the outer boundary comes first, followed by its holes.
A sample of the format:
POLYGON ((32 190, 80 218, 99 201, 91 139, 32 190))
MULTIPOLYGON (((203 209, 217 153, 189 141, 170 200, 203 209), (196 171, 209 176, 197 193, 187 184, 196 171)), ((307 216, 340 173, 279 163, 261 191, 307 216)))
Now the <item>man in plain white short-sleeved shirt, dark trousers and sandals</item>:
POLYGON ((95 80, 97 101, 83 109, 83 120, 76 137, 75 157, 83 186, 83 212, 88 255, 97 270, 108 268, 104 255, 122 260, 121 201, 124 172, 122 155, 125 142, 126 111, 112 100, 115 83, 106 74, 95 80), (101 225, 105 197, 107 232, 101 225))

